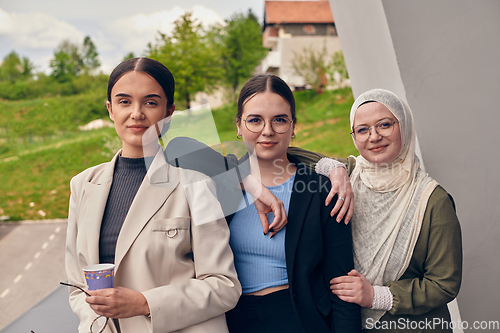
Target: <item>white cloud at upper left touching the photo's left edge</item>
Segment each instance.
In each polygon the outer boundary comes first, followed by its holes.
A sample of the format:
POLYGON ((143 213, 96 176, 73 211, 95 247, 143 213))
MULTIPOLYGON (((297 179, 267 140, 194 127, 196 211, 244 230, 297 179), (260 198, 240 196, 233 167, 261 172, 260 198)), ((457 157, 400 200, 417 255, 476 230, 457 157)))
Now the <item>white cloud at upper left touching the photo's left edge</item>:
POLYGON ((8 13, 0 9, 0 35, 14 48, 55 49, 63 39, 80 43, 84 34, 74 26, 42 13, 8 13))

